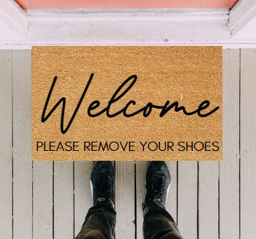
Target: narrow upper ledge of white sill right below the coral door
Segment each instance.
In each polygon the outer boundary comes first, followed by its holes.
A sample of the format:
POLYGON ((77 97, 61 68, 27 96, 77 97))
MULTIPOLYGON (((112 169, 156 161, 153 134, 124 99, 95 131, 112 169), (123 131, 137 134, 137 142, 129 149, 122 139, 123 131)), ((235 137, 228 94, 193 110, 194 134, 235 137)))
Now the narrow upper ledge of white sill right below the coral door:
POLYGON ((48 9, 48 10, 28 10, 30 21, 88 21, 102 20, 147 20, 158 19, 159 21, 209 21, 227 20, 229 11, 227 9, 48 9))

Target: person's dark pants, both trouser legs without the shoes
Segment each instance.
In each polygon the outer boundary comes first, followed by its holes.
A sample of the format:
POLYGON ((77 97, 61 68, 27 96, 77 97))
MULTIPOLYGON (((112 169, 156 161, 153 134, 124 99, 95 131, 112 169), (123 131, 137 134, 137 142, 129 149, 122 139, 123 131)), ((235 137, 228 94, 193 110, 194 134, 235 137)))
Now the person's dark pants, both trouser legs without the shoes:
MULTIPOLYGON (((173 218, 157 201, 143 205, 145 239, 182 239, 173 218)), ((89 209, 76 239, 112 239, 115 235, 115 210, 98 205, 89 209)), ((117 238, 118 239, 118 238, 117 238)))

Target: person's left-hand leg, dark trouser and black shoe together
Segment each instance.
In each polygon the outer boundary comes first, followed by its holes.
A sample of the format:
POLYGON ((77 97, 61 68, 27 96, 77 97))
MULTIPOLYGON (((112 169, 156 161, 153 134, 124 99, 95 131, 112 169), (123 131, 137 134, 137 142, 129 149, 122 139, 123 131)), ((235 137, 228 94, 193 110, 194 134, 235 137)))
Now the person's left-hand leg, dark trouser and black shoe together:
POLYGON ((91 172, 93 207, 76 239, 112 239, 115 235, 115 169, 109 161, 96 162, 91 172))

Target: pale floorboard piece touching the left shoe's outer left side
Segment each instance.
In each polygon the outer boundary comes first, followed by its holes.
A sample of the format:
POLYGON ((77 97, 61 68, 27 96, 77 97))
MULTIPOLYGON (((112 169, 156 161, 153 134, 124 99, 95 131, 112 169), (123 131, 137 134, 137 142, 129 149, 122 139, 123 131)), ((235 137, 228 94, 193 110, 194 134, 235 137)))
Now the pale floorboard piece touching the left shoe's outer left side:
POLYGON ((92 206, 90 177, 93 162, 75 162, 75 235, 81 230, 88 209, 92 206))

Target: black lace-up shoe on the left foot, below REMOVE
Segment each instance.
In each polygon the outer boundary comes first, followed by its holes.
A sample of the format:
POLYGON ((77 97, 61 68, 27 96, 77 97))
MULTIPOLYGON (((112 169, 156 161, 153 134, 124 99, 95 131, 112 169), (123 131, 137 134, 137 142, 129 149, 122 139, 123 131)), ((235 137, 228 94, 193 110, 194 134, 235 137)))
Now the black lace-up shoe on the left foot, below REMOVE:
POLYGON ((95 162, 91 172, 93 205, 115 205, 115 169, 110 161, 95 162))

